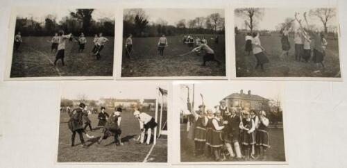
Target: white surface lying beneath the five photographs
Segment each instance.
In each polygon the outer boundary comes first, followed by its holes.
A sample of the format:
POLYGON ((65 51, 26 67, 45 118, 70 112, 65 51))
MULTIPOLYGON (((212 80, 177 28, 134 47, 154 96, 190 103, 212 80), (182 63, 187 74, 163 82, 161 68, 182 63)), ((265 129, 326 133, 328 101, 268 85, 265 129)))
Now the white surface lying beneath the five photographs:
MULTIPOLYGON (((8 42, 10 6, 119 6, 148 1, 5 1, 0 0, 0 167, 98 167, 96 165, 57 165, 58 102, 61 81, 3 82, 8 42)), ((153 1, 151 1, 153 2, 153 1)), ((179 6, 208 6, 245 1, 158 1, 179 6), (179 3, 180 2, 180 3, 179 3)), ((253 4, 255 1, 246 1, 253 4)), ((256 1, 288 5, 334 5, 339 7, 341 66, 346 81, 347 1, 256 1)), ((86 81, 88 82, 88 81, 86 81)), ((115 81, 105 81, 115 82, 115 81)), ((141 83, 141 81, 136 81, 141 83)), ((277 81, 273 81, 276 83, 277 81)), ((262 85, 261 81, 258 85, 262 85)), ((347 84, 346 82, 285 81, 287 109, 286 140, 289 165, 245 165, 242 167, 347 167, 347 84)), ((172 125, 172 123, 171 123, 172 125)), ((179 140, 178 137, 171 140, 179 140)), ((177 149, 177 146, 171 146, 177 149)), ((171 156, 173 157, 173 156, 171 156)), ((115 167, 103 165, 102 167, 115 167)), ((117 167, 129 167, 117 165, 117 167)), ((140 167, 139 165, 133 167, 140 167)), ((159 167, 147 165, 147 167, 159 167)), ((163 166, 160 166, 163 167, 163 166)), ((173 166, 210 167, 210 166, 173 166)), ((220 166, 230 167, 230 166, 220 166)), ((235 167, 240 167, 239 165, 235 167)))

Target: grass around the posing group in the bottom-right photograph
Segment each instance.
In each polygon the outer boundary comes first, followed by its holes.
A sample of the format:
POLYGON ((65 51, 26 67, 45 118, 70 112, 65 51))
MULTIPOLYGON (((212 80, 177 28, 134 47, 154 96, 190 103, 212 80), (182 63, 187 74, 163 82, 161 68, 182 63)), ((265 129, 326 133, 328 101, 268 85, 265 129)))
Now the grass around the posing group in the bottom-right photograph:
MULTIPOLYGON (((187 139, 187 124, 180 124, 180 160, 181 162, 210 162, 212 158, 194 156, 194 140, 187 139)), ((285 161, 285 142, 283 130, 280 128, 269 129, 269 144, 271 148, 266 151, 265 161, 285 161)), ((231 161, 231 160, 225 160, 231 161)), ((257 161, 257 160, 251 160, 257 161)))

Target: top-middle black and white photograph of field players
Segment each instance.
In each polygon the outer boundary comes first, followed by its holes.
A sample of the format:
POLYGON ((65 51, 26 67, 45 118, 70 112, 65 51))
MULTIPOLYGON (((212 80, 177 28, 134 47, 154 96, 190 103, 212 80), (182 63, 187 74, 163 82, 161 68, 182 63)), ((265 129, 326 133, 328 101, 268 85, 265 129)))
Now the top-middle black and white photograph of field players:
POLYGON ((223 9, 125 9, 123 37, 121 77, 226 76, 223 9))

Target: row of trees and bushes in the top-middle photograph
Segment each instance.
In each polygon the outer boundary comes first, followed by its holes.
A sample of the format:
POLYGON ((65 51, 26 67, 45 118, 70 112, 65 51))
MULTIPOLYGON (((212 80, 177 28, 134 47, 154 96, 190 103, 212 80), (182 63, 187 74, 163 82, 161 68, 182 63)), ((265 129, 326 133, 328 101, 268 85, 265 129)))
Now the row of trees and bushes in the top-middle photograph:
POLYGON ((149 22, 149 16, 142 9, 128 10, 124 14, 123 35, 133 34, 135 37, 155 37, 160 35, 179 34, 223 34, 225 20, 219 13, 195 19, 181 19, 176 25, 169 25, 164 19, 149 22))

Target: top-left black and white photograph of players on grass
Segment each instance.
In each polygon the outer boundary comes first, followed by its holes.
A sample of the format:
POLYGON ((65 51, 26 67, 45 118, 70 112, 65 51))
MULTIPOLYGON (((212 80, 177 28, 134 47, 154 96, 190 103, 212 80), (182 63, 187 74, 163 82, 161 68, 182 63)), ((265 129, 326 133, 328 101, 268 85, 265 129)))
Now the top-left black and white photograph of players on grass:
POLYGON ((30 7, 16 8, 14 15, 10 78, 112 78, 114 10, 30 7))

